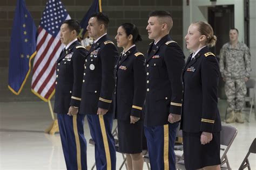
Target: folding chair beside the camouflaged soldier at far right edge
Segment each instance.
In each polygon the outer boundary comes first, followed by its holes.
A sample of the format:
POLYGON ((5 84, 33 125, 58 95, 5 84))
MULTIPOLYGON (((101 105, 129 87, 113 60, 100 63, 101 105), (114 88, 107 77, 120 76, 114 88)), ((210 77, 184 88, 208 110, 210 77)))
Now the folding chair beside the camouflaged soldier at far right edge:
MULTIPOLYGON (((251 119, 251 114, 252 114, 252 106, 254 104, 254 114, 255 114, 255 120, 256 120, 256 109, 255 109, 255 80, 254 79, 249 79, 247 82, 245 82, 246 88, 247 89, 253 89, 252 91, 252 97, 248 96, 245 97, 245 102, 250 102, 251 103, 251 108, 250 108, 250 115, 248 118, 248 122, 250 122, 251 119)), ((250 93, 248 93, 250 95, 250 93)))

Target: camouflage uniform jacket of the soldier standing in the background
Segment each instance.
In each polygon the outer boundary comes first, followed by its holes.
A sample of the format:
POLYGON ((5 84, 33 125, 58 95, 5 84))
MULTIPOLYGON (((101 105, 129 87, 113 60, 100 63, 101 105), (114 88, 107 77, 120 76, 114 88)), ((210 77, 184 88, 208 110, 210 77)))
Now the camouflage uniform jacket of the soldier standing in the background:
POLYGON ((235 48, 227 42, 220 50, 219 66, 221 76, 225 78, 250 77, 250 49, 242 42, 238 42, 235 48))

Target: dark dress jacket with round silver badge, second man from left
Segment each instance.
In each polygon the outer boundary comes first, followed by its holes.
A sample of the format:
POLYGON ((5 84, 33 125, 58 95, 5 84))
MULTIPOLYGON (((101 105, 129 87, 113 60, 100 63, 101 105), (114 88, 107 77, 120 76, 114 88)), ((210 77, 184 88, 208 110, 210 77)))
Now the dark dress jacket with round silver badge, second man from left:
POLYGON ((98 108, 113 112, 114 65, 118 58, 116 46, 100 38, 85 57, 80 114, 97 114, 98 108))

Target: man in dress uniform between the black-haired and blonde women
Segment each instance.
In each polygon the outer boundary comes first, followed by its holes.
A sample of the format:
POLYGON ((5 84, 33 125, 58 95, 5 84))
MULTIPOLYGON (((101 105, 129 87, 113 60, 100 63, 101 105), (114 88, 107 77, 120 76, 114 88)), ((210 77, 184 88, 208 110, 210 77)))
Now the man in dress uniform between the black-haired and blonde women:
POLYGON ((146 27, 151 42, 146 56, 144 128, 151 169, 176 169, 174 142, 181 114, 181 71, 185 56, 171 40, 172 17, 153 11, 146 27))

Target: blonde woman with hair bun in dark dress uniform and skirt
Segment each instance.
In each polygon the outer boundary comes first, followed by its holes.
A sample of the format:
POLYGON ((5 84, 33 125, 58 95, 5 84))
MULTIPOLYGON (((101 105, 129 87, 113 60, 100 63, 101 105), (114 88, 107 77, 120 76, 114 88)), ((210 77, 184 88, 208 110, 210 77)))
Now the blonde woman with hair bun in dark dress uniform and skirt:
POLYGON ((208 47, 217 40, 210 24, 188 27, 186 46, 193 53, 183 70, 183 130, 186 169, 220 169, 221 121, 218 103, 219 64, 208 47))

